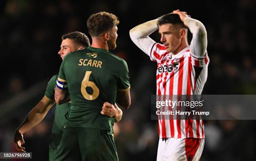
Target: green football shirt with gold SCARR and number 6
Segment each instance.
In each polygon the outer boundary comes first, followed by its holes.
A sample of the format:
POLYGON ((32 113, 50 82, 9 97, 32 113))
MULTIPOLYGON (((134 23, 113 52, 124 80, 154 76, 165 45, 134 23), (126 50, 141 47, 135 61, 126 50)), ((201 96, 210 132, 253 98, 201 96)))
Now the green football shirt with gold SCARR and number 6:
POLYGON ((115 104, 118 90, 130 88, 128 66, 108 50, 87 47, 65 57, 57 86, 67 87, 71 98, 67 127, 113 131, 114 118, 100 111, 104 102, 115 104))

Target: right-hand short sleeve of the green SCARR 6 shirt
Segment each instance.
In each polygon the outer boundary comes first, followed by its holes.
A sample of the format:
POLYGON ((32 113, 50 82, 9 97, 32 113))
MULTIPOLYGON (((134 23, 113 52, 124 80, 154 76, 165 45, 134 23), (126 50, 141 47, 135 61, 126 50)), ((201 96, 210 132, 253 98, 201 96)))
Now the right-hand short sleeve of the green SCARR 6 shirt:
POLYGON ((125 60, 120 61, 120 72, 118 77, 118 90, 119 91, 125 91, 127 89, 130 89, 130 81, 129 81, 129 70, 127 63, 125 60))

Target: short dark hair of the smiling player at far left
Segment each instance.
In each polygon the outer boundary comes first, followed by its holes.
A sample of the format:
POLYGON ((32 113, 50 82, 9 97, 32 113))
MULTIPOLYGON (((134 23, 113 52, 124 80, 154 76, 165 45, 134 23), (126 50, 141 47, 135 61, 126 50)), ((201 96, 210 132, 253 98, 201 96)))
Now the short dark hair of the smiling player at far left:
POLYGON ((73 33, 67 33, 61 36, 61 40, 65 40, 67 38, 74 40, 77 44, 82 45, 84 48, 90 46, 90 41, 87 35, 85 35, 84 33, 75 31, 73 33))

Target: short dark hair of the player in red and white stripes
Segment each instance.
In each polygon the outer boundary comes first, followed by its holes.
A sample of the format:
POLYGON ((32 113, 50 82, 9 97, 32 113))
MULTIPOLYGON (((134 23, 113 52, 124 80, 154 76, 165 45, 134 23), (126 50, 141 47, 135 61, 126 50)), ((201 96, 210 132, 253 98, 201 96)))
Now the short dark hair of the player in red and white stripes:
POLYGON ((183 28, 186 28, 182 20, 179 18, 178 14, 174 13, 169 13, 166 15, 162 15, 158 20, 157 20, 157 25, 164 25, 166 23, 171 23, 174 25, 181 25, 183 28))

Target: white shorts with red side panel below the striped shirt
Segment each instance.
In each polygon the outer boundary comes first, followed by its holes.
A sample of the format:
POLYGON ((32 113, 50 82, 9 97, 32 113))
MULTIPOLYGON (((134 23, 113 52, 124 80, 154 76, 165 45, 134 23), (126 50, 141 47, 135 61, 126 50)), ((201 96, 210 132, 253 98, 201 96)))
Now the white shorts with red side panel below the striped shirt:
POLYGON ((160 138, 156 161, 199 161, 204 144, 204 138, 160 138))

